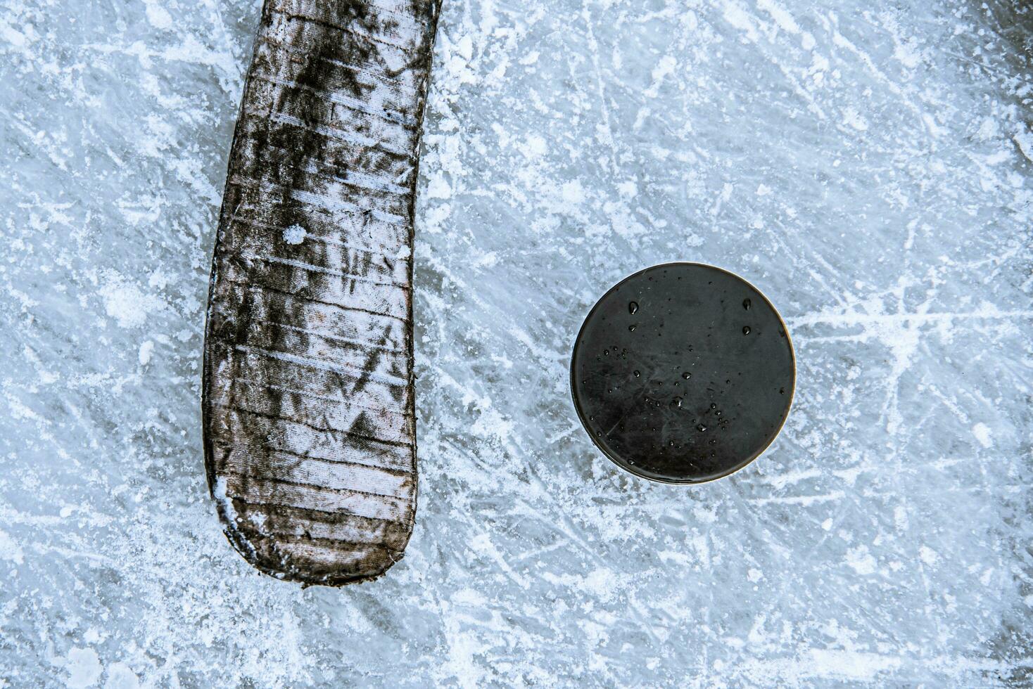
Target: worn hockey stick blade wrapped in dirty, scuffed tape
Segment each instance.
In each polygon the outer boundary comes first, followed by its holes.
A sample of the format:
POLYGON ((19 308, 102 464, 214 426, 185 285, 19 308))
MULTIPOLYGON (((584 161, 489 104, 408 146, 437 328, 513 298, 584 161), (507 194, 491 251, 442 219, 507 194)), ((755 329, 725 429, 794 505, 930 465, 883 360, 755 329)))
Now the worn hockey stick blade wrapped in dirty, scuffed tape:
POLYGON ((265 0, 212 262, 202 414, 233 547, 382 575, 416 510, 412 248, 440 0, 265 0))

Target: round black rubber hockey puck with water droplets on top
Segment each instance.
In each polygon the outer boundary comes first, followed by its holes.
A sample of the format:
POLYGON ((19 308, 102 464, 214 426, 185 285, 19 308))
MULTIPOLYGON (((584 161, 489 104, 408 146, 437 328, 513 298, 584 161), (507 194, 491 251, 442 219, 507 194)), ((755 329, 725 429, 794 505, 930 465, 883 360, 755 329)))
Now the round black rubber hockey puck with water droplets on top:
POLYGON ((796 366, 757 288, 700 263, 646 268, 589 311, 570 361, 574 408, 621 468, 713 481, 762 453, 789 414, 796 366))

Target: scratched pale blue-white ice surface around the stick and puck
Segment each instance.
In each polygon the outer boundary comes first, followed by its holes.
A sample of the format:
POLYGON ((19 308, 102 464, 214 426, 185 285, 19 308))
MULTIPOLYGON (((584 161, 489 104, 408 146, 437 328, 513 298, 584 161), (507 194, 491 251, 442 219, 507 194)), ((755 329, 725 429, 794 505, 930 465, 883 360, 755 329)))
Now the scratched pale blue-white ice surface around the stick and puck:
POLYGON ((0 684, 1030 686, 1012 2, 445 0, 418 522, 302 590, 227 545, 199 445, 258 4, 0 0, 0 684), (679 259, 799 358, 773 449, 698 488, 614 467, 567 386, 594 300, 679 259))

